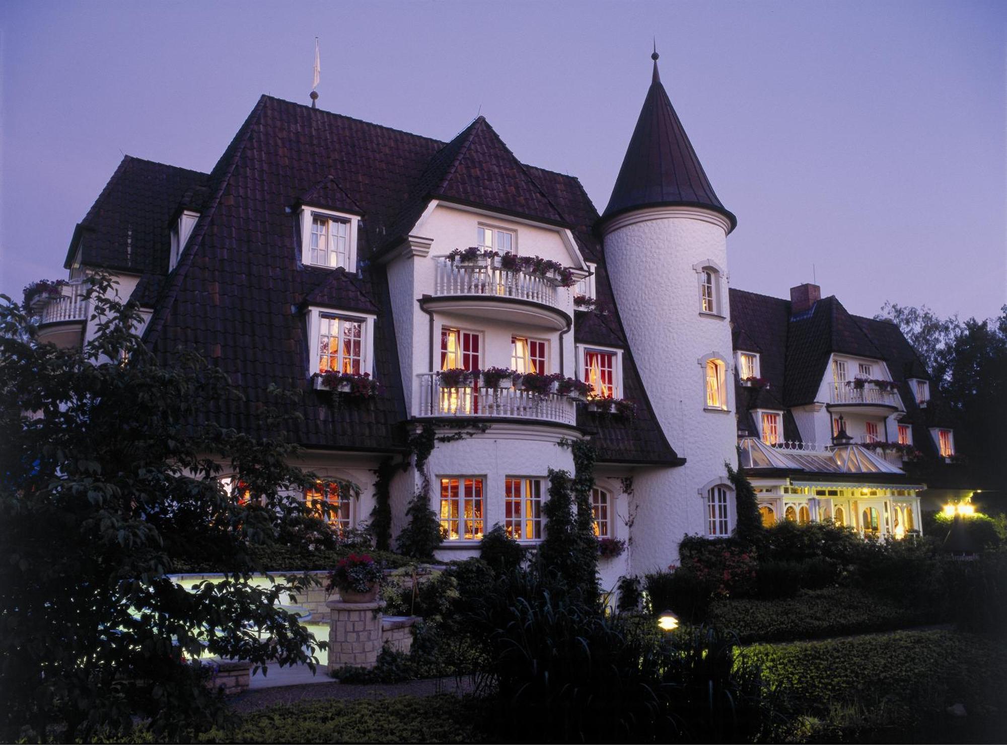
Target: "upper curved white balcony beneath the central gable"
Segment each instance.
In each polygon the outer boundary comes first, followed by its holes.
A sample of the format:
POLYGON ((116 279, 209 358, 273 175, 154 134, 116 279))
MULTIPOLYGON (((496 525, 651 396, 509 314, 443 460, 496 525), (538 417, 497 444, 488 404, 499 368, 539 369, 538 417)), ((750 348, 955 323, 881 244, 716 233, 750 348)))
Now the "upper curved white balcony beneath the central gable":
POLYGON ((455 263, 435 260, 434 292, 424 304, 469 316, 494 318, 553 330, 571 322, 567 288, 521 270, 499 267, 498 260, 455 263))

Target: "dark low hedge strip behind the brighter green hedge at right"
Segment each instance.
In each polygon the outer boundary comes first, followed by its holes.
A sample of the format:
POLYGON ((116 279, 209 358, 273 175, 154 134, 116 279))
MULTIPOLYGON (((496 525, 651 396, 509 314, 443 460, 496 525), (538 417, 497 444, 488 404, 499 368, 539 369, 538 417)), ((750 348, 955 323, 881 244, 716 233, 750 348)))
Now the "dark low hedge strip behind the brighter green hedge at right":
POLYGON ((928 620, 918 610, 844 587, 806 590, 778 600, 715 600, 710 606, 711 623, 735 631, 746 644, 885 631, 928 620))

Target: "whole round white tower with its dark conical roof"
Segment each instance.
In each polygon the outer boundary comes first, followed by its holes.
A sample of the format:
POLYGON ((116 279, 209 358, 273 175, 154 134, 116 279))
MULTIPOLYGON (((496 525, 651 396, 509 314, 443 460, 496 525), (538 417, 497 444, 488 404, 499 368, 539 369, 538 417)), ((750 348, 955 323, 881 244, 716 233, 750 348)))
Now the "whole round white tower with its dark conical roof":
POLYGON ((685 534, 729 534, 736 465, 727 235, 720 202, 654 74, 599 228, 633 358, 665 434, 686 464, 640 473, 632 571, 678 561, 685 534))

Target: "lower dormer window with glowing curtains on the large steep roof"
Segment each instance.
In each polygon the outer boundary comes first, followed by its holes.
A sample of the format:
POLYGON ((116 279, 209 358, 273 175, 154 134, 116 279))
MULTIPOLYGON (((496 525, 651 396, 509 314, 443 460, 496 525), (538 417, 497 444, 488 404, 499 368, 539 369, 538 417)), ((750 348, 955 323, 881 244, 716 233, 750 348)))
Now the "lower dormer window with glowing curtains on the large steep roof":
POLYGON ((375 316, 325 308, 308 311, 310 374, 373 375, 375 316))

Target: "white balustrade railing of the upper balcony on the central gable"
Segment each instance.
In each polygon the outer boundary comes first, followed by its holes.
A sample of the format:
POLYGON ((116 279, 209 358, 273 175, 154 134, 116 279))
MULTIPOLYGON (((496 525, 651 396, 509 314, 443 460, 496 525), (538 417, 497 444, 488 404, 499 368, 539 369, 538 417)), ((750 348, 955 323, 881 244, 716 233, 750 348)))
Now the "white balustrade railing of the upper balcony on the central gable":
POLYGON ((483 262, 461 264, 443 257, 437 259, 434 296, 490 295, 559 307, 558 288, 549 280, 520 270, 500 269, 498 259, 483 262))

